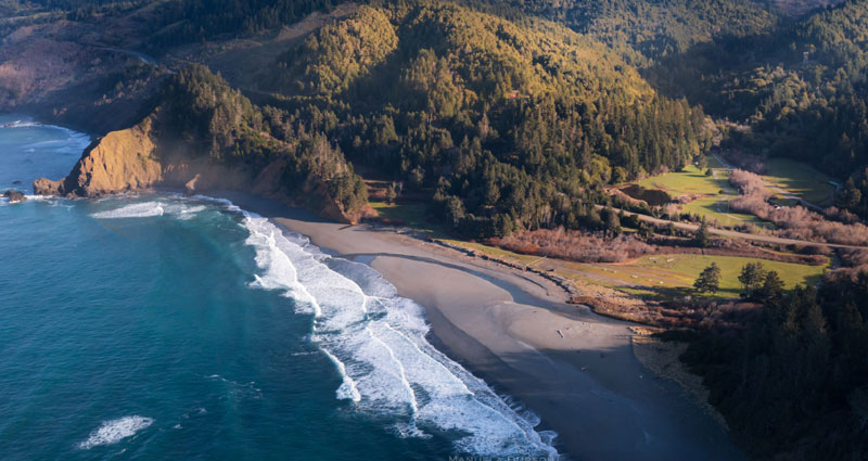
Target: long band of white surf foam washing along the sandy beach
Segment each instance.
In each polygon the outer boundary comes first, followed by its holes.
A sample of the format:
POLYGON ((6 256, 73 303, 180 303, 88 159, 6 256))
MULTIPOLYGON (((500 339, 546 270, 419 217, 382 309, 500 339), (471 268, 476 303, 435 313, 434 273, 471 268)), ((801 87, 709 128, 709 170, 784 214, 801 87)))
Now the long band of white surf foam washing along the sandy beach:
POLYGON ((553 433, 537 433, 535 415, 511 408, 427 343, 422 307, 398 297, 376 271, 331 258, 307 239, 244 215, 246 243, 261 270, 253 285, 284 291, 299 311, 315 316, 311 340, 342 375, 337 398, 395 417, 404 436, 460 432, 456 448, 462 452, 557 458, 553 433))

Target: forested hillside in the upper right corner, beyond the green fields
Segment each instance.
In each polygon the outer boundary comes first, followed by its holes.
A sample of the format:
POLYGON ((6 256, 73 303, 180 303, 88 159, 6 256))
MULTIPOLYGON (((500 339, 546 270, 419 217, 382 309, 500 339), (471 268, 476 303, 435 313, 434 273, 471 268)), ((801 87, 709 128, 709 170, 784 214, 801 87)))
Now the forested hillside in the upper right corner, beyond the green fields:
POLYGON ((765 38, 698 47, 648 75, 664 92, 744 124, 731 146, 843 180, 868 164, 867 36, 868 2, 851 0, 765 38))

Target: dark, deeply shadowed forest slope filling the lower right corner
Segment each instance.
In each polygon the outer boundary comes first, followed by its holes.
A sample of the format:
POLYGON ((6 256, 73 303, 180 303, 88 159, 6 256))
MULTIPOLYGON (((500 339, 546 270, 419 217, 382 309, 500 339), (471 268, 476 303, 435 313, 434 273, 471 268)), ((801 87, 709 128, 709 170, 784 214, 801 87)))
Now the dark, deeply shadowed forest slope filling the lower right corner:
POLYGON ((868 457, 868 277, 768 299, 685 355, 755 459, 868 457))

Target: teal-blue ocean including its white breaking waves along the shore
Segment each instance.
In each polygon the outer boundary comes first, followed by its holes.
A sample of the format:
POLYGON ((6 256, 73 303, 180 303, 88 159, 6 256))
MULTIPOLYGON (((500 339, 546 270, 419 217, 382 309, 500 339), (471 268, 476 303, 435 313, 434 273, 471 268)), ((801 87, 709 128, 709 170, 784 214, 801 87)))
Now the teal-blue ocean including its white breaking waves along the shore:
MULTIPOLYGON (((89 141, 0 115, 0 191, 89 141)), ((0 460, 557 458, 422 307, 227 201, 2 200, 0 264, 0 460)))

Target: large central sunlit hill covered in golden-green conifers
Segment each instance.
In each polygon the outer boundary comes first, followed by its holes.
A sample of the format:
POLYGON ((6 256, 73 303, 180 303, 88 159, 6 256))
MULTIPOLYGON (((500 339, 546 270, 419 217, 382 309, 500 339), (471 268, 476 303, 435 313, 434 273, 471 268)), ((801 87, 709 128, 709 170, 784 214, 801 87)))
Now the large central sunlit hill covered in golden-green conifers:
POLYGON ((265 73, 284 125, 435 197, 469 236, 601 225, 595 191, 704 152, 701 111, 604 46, 435 2, 362 7, 265 73))

